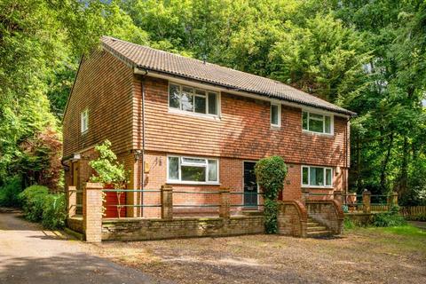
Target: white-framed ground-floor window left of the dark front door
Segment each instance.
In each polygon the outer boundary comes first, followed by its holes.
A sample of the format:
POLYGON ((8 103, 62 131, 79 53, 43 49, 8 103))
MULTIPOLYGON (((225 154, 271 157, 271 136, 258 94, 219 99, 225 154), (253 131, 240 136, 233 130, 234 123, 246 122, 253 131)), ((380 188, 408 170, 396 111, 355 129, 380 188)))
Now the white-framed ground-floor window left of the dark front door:
POLYGON ((170 155, 167 157, 167 181, 182 184, 218 184, 219 161, 170 155))

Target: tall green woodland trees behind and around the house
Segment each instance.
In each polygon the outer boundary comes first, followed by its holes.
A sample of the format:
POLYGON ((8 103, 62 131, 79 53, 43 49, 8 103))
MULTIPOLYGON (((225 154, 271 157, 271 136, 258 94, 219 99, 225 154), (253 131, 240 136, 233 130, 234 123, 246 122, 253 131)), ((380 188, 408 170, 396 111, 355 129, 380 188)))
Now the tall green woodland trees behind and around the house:
POLYGON ((79 60, 103 35, 351 109, 350 189, 425 203, 421 0, 0 0, 0 197, 62 186, 61 118, 79 60))

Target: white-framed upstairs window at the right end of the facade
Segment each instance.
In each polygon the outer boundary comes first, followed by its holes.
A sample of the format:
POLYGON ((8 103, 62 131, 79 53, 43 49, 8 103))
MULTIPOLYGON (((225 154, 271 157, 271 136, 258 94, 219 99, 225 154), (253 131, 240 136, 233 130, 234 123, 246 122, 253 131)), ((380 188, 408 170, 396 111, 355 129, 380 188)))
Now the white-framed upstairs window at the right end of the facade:
POLYGON ((302 112, 302 129, 315 133, 333 134, 333 115, 315 114, 304 111, 302 112))

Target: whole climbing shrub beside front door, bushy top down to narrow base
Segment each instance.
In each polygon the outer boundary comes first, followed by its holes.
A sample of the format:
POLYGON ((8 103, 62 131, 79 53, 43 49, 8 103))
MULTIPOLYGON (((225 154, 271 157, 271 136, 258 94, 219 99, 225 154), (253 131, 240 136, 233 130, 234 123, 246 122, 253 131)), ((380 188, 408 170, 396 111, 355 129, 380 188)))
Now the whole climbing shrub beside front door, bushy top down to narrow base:
POLYGON ((256 162, 256 179, 264 193, 264 231, 278 232, 278 193, 284 187, 287 166, 280 156, 264 158, 256 162))

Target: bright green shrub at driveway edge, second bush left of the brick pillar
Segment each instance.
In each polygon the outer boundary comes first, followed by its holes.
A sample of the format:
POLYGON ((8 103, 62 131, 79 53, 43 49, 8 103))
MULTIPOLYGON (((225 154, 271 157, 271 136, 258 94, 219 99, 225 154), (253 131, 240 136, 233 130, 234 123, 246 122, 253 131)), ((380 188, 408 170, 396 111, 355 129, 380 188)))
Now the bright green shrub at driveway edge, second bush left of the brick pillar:
POLYGON ((44 199, 49 190, 43 185, 31 185, 20 193, 20 201, 25 217, 32 222, 42 220, 44 199))

